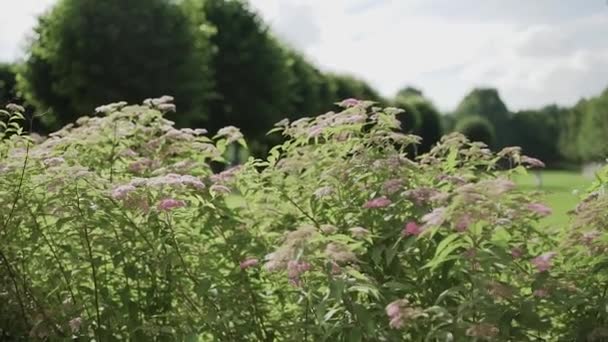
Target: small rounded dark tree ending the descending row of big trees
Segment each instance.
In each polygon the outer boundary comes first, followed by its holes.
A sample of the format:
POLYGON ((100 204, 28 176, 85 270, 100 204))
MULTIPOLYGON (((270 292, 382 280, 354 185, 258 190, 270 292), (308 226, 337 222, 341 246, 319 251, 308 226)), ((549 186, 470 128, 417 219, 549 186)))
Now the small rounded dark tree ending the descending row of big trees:
POLYGON ((439 111, 424 97, 422 91, 412 87, 400 90, 393 103, 395 107, 405 110, 398 116, 402 128, 408 133, 422 137, 418 152, 430 151, 442 135, 439 111))

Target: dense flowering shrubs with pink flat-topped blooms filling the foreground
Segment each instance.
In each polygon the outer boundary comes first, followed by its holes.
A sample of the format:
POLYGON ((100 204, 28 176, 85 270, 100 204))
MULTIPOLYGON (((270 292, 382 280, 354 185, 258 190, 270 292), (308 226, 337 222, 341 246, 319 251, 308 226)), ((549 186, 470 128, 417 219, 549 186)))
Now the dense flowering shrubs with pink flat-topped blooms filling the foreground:
POLYGON ((219 174, 239 130, 175 129, 168 97, 46 139, 22 134, 18 106, 1 112, 0 336, 608 335, 601 184, 572 227, 540 227, 550 210, 509 180, 538 160, 460 134, 413 160, 397 109, 342 106, 278 123, 267 159, 219 174))

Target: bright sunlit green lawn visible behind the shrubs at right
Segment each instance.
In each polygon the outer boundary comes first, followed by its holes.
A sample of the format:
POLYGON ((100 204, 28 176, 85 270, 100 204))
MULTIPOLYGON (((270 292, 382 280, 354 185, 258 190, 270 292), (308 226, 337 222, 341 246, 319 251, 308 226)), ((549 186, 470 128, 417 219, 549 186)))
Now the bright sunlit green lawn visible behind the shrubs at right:
POLYGON ((538 186, 534 172, 516 178, 515 181, 523 189, 544 192, 545 204, 553 209, 553 215, 544 219, 547 225, 563 224, 568 221, 569 210, 579 202, 574 190, 583 193, 593 182, 579 172, 573 171, 542 171, 542 186, 538 186))

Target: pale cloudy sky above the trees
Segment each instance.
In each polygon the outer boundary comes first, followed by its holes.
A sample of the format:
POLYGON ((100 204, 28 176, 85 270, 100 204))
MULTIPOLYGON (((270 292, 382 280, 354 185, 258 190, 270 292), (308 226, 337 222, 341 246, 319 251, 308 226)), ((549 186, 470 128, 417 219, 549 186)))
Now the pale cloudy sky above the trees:
MULTIPOLYGON (((55 0, 0 0, 0 61, 23 56, 55 0)), ((322 70, 385 96, 412 85, 442 110, 476 86, 511 110, 574 104, 608 87, 607 0, 252 0, 322 70)))

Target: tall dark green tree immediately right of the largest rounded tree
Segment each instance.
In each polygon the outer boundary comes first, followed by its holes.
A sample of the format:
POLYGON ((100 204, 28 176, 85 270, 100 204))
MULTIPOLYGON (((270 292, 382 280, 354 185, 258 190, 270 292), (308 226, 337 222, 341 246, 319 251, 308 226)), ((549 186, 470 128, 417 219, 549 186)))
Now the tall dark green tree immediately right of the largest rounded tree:
POLYGON ((217 97, 211 102, 208 128, 234 125, 261 142, 289 111, 291 80, 285 51, 247 3, 205 0, 203 8, 216 28, 211 42, 217 47, 211 60, 217 97))

